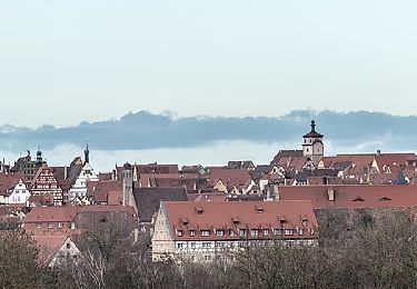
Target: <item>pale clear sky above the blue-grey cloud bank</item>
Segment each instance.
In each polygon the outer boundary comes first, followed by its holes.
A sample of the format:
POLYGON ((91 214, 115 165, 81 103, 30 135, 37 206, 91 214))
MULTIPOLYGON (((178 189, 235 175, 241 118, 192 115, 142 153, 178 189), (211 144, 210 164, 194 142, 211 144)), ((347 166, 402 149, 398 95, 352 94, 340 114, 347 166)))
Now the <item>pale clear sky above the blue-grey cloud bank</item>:
POLYGON ((416 1, 0 1, 0 124, 416 114, 416 1))

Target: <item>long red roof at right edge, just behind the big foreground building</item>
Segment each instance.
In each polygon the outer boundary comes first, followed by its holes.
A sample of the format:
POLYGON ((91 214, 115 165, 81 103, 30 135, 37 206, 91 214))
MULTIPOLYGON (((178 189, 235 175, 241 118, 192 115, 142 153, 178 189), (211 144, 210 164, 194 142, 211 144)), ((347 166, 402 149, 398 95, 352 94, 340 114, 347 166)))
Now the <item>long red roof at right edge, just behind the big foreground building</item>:
POLYGON ((417 186, 295 186, 279 187, 280 200, 310 200, 315 209, 417 207, 417 186), (328 190, 335 192, 329 201, 328 190))

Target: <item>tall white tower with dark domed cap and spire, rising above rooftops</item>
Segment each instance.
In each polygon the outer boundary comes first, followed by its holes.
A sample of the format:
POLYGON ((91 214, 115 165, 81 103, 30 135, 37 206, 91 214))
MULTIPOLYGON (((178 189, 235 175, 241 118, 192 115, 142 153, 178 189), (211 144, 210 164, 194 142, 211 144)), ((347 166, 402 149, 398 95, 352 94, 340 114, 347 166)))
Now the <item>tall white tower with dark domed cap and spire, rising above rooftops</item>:
POLYGON ((311 159, 315 166, 325 156, 324 136, 316 131, 316 121, 311 120, 311 130, 305 134, 302 141, 302 156, 311 159))

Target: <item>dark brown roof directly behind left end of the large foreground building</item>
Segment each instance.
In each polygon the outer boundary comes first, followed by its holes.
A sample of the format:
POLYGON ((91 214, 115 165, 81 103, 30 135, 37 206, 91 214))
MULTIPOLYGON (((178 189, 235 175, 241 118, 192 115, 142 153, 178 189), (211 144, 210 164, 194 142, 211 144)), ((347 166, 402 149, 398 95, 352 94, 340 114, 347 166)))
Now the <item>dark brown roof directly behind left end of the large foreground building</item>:
POLYGON ((161 201, 187 201, 185 188, 135 188, 133 197, 141 222, 150 222, 161 201))

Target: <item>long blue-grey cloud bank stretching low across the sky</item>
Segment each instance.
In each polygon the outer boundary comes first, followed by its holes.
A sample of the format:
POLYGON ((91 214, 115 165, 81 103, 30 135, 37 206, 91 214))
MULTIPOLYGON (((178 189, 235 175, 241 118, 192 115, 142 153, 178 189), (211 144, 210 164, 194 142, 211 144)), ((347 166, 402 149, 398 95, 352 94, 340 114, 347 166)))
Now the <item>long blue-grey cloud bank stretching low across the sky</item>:
POLYGON ((416 148, 417 117, 367 111, 339 113, 298 110, 277 118, 173 118, 139 111, 119 120, 83 122, 68 128, 3 126, 0 127, 0 149, 16 152, 38 144, 52 149, 60 143, 83 146, 86 140, 100 150, 189 148, 231 140, 297 142, 309 130, 311 117, 317 120, 317 130, 335 147, 376 142, 376 147, 386 150, 416 148))

